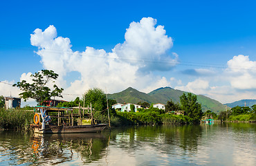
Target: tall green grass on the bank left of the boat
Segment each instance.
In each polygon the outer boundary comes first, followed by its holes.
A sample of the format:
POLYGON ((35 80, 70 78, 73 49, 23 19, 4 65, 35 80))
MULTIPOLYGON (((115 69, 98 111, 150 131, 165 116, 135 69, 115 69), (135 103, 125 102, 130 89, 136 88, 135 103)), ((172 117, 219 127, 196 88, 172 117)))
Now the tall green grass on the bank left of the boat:
POLYGON ((27 131, 29 125, 33 123, 33 116, 33 111, 0 109, 0 130, 15 129, 27 131))

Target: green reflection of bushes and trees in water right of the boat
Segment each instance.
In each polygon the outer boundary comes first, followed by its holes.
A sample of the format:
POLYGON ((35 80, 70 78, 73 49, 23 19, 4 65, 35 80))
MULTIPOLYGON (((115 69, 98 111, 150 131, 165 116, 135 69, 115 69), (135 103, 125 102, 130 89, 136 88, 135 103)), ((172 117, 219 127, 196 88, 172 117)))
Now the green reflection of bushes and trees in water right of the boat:
POLYGON ((143 147, 152 147, 155 151, 165 151, 172 154, 179 146, 183 151, 196 152, 203 129, 200 125, 162 125, 140 126, 127 129, 112 130, 111 142, 119 144, 120 148, 131 151, 143 147), (117 132, 117 133, 116 133, 117 132))

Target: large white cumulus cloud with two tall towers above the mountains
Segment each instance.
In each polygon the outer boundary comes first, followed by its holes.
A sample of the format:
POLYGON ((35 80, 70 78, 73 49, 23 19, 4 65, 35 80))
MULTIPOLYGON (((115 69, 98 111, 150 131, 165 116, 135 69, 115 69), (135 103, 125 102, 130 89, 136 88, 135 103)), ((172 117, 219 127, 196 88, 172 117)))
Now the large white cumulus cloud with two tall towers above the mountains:
POLYGON ((103 49, 86 47, 84 52, 73 51, 68 38, 57 37, 57 30, 49 26, 36 29, 30 37, 31 44, 38 47, 44 68, 60 75, 58 84, 71 71, 81 78, 66 87, 66 93, 82 94, 89 88, 100 87, 113 93, 129 86, 150 89, 156 84, 168 86, 165 78, 151 71, 169 71, 177 64, 178 55, 169 53, 172 38, 165 35, 163 26, 156 26, 156 19, 143 18, 132 22, 125 33, 125 42, 117 44, 111 53, 103 49))

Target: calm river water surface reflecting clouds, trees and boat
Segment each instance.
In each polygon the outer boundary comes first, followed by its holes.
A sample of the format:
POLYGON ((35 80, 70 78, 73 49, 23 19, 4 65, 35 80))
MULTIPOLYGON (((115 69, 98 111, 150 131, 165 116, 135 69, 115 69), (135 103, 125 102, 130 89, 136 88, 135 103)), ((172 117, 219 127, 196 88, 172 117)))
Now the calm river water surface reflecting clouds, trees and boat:
POLYGON ((0 133, 0 165, 256 165, 256 124, 0 133))

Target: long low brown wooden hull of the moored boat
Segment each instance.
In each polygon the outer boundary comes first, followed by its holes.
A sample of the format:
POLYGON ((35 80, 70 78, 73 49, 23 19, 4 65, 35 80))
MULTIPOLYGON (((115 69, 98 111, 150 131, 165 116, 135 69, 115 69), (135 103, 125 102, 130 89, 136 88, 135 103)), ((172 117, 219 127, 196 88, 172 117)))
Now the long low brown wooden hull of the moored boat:
POLYGON ((46 125, 42 129, 42 124, 32 124, 30 127, 34 133, 97 133, 101 132, 107 127, 107 124, 92 124, 92 125, 80 125, 80 126, 54 126, 46 125))

